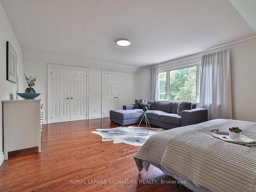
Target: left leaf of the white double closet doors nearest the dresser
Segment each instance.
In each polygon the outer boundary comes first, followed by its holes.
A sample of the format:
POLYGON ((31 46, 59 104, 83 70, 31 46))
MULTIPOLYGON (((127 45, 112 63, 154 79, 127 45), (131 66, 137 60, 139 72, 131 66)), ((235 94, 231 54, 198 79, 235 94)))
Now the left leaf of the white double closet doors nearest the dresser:
POLYGON ((70 121, 70 70, 52 67, 51 122, 70 121))

